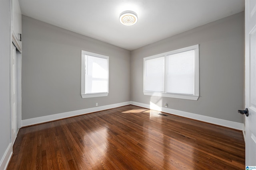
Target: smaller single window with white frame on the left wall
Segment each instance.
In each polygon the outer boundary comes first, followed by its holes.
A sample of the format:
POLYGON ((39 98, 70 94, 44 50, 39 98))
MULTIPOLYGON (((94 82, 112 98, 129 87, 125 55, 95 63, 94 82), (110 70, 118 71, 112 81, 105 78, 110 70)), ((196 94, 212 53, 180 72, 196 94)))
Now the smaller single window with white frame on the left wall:
POLYGON ((81 95, 108 96, 108 56, 82 51, 81 95))

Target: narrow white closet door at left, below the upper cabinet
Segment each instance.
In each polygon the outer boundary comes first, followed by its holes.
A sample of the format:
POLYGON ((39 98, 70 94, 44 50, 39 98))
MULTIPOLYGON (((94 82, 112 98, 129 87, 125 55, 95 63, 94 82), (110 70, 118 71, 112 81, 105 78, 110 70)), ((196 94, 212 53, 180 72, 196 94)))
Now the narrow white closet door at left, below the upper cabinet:
POLYGON ((11 56, 11 123, 12 123, 12 145, 17 136, 17 105, 16 105, 16 47, 12 44, 11 56))

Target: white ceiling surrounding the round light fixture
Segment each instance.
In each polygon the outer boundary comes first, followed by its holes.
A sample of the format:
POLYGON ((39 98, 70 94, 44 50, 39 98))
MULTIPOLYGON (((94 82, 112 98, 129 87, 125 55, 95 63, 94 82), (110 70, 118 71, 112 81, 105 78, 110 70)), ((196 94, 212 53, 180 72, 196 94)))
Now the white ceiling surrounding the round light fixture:
POLYGON ((244 0, 19 0, 21 12, 124 49, 133 50, 244 11, 244 0), (120 13, 138 22, 125 26, 120 13))

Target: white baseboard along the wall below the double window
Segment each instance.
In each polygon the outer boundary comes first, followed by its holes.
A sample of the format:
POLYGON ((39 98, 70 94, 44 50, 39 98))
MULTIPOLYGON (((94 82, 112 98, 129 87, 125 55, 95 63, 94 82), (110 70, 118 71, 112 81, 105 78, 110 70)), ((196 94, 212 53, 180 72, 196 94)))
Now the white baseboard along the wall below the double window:
POLYGON ((214 118, 214 117, 209 117, 209 116, 204 116, 204 115, 198 115, 198 114, 194 114, 194 113, 189 113, 186 111, 180 111, 180 110, 175 110, 175 109, 169 109, 169 108, 165 108, 165 107, 159 107, 156 106, 155 104, 143 104, 143 103, 138 103, 138 102, 131 102, 132 105, 135 106, 140 106, 140 107, 145 107, 148 109, 153 109, 156 111, 162 111, 165 113, 170 113, 173 115, 179 115, 182 117, 187 117, 190 119, 196 119, 199 121, 204 121, 207 123, 212 123, 215 125, 221 125, 224 127, 229 127, 232 129, 238 129, 243 131, 244 130, 244 123, 238 123, 238 122, 234 122, 234 121, 228 121, 228 120, 223 120, 223 119, 218 119, 218 118, 214 118))

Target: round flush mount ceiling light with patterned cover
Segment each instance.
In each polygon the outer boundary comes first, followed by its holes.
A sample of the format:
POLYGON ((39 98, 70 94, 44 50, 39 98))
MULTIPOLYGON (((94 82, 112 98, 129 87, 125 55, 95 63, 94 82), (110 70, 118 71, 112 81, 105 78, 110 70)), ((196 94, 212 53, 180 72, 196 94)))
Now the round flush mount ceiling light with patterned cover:
POLYGON ((123 25, 134 25, 138 21, 138 17, 133 11, 124 11, 120 14, 119 21, 123 25))

